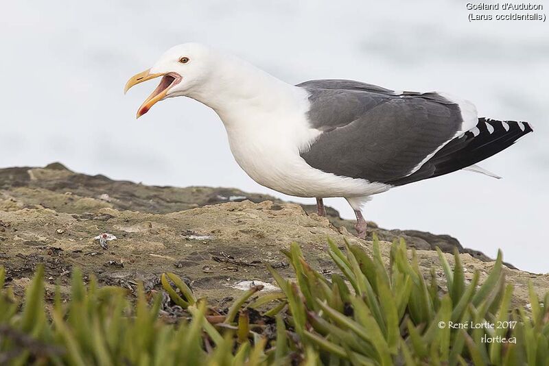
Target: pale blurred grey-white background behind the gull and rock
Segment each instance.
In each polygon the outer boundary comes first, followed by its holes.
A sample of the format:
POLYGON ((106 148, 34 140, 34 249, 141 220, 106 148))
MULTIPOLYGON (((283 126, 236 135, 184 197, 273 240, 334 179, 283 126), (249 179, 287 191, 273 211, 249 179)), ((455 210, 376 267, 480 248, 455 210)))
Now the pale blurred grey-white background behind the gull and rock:
MULTIPOLYGON (((549 32, 535 21, 469 22, 462 1, 10 1, 0 14, 0 167, 59 161, 87 174, 172 186, 226 186, 294 202, 236 164, 215 112, 183 97, 135 113, 156 87, 128 78, 168 48, 202 42, 281 80, 341 78, 444 91, 480 116, 535 133, 482 162, 366 204, 383 228, 450 234, 465 247, 549 272, 549 32)), ((354 218, 344 199, 326 199, 354 218)))

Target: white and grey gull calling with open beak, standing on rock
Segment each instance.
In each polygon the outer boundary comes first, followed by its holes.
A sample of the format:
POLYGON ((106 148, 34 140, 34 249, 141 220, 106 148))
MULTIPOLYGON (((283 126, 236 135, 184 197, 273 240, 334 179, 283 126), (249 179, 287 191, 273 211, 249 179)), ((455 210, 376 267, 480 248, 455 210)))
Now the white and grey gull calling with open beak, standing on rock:
POLYGON ((137 118, 158 101, 190 97, 212 108, 236 162, 255 182, 296 197, 344 197, 365 238, 362 206, 390 188, 460 169, 500 178, 476 163, 532 132, 529 123, 478 117, 470 101, 353 80, 292 85, 199 43, 172 47, 128 80, 161 77, 137 118))

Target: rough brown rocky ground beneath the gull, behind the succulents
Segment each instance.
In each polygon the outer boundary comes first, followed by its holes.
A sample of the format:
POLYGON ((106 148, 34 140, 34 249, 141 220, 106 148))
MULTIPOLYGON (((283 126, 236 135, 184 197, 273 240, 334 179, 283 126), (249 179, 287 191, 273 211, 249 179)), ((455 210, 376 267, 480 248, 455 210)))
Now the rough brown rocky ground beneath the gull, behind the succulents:
MULTIPOLYGON (((44 263, 50 290, 60 281, 67 291, 75 266, 95 273, 102 284, 130 289, 139 281, 156 286, 160 273, 173 271, 199 297, 224 302, 246 288, 246 281, 272 282, 266 263, 292 276, 280 252, 292 241, 301 243, 309 263, 325 273, 336 271, 326 250, 328 237, 369 251, 371 243, 353 236, 353 223, 336 210, 329 208, 328 218, 314 212, 316 206, 232 188, 144 186, 74 173, 59 163, 0 169, 0 265, 19 293, 36 265, 44 263), (117 238, 106 241, 108 249, 95 239, 102 233, 117 238)), ((458 247, 468 276, 479 269, 484 278, 493 266, 451 236, 370 223, 370 238, 373 232, 384 241, 404 237, 417 249, 421 267, 427 272, 435 266, 440 276, 436 246, 444 252, 458 247)), ((528 280, 540 294, 549 290, 549 275, 507 267, 517 301, 527 302, 528 280)))

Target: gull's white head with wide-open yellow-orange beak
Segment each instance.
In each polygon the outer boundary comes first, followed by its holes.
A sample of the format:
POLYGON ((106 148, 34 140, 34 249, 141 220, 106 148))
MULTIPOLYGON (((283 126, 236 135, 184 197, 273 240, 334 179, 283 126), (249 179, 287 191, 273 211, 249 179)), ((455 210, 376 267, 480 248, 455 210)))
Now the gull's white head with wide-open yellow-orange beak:
POLYGON ((198 43, 184 43, 168 49, 154 65, 126 83, 124 93, 132 86, 161 77, 159 86, 139 107, 137 118, 148 112, 157 101, 170 97, 189 95, 207 80, 213 58, 213 51, 198 43))

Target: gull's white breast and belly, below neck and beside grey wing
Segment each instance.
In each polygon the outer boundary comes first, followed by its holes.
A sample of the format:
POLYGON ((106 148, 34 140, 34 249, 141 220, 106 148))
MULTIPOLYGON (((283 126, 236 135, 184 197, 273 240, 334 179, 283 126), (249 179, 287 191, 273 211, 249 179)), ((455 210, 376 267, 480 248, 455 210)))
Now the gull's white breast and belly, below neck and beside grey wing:
POLYGON ((300 156, 318 137, 307 122, 308 101, 268 112, 235 108, 221 119, 237 163, 255 182, 298 197, 361 197, 390 186, 315 169, 300 156))

